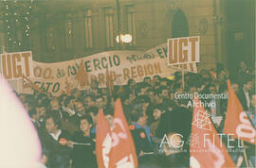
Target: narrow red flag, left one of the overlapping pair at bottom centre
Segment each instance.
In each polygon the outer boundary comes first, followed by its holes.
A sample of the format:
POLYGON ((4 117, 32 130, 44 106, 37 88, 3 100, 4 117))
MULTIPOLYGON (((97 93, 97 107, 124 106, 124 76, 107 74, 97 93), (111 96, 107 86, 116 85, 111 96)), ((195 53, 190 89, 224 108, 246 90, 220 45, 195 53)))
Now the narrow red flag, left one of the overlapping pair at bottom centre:
POLYGON ((109 153, 111 150, 110 126, 107 123, 102 109, 97 116, 96 154, 99 168, 108 168, 109 153))

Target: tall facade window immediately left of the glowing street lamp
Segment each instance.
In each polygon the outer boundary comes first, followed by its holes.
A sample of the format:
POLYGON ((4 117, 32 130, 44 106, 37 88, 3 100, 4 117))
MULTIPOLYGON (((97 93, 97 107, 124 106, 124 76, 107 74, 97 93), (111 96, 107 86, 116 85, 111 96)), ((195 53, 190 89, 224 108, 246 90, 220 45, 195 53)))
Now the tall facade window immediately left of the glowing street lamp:
POLYGON ((112 8, 104 8, 106 46, 114 47, 114 14, 112 8))

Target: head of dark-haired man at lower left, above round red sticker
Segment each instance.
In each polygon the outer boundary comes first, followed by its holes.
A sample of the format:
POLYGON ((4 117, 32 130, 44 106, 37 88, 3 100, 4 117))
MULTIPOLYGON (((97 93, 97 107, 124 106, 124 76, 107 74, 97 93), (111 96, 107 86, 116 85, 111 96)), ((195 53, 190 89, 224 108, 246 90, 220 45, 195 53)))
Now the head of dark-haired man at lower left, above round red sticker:
POLYGON ((49 111, 46 115, 46 131, 49 134, 56 134, 61 129, 61 122, 56 111, 49 111))

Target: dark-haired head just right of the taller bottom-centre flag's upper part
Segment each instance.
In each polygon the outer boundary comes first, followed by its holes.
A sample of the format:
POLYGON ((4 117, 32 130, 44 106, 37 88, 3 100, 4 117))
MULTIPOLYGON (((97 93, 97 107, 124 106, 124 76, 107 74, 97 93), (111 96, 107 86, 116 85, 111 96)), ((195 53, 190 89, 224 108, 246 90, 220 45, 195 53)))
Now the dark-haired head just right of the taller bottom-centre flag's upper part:
POLYGON ((142 104, 134 104, 130 113, 130 121, 137 123, 139 126, 147 126, 147 117, 143 111, 142 104))

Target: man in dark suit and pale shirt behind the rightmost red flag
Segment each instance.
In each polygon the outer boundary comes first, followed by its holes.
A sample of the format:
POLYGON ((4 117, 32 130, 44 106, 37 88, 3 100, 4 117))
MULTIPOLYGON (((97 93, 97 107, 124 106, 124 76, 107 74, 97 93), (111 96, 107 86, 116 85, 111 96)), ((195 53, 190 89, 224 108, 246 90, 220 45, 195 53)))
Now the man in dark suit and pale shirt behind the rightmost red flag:
POLYGON ((250 107, 250 91, 252 89, 252 81, 250 76, 245 76, 243 79, 243 86, 238 92, 238 98, 243 106, 244 110, 248 110, 250 107))

